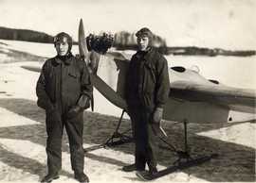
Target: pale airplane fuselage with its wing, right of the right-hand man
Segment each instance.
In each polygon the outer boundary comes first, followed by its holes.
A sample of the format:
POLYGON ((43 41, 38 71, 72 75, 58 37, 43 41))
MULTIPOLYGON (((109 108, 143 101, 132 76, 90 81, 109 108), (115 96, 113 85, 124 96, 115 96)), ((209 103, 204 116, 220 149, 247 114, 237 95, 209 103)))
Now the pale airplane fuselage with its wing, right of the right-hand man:
POLYGON ((170 97, 164 118, 192 123, 255 119, 256 92, 208 80, 182 67, 170 69, 170 97))

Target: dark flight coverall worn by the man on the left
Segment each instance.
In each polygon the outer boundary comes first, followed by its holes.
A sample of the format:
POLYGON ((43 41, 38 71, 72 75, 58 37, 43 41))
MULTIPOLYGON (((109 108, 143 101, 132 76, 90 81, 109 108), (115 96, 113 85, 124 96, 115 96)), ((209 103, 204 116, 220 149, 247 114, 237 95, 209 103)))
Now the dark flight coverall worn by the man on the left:
POLYGON ((85 63, 71 54, 47 59, 36 86, 38 106, 46 109, 46 154, 49 173, 62 168, 62 136, 65 126, 68 136, 71 167, 83 172, 83 109, 88 108, 92 84, 85 63), (73 117, 67 112, 80 106, 73 117))

